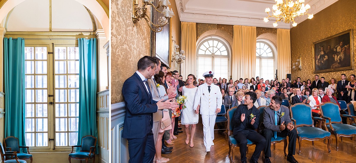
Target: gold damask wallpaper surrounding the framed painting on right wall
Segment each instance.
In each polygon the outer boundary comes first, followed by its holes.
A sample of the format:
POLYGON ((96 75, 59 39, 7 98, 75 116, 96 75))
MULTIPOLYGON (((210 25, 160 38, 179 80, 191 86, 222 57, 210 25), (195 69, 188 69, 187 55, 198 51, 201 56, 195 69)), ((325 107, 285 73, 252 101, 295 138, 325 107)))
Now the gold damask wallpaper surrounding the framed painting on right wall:
MULTIPOLYGON (((314 18, 305 20, 299 23, 297 27, 290 30, 290 46, 292 63, 299 59, 302 55, 302 70, 294 71, 292 69, 292 78, 298 76, 302 80, 313 80, 313 42, 327 38, 334 34, 346 31, 347 29, 356 29, 356 1, 342 0, 337 1, 324 10, 316 13, 314 18)), ((355 31, 353 38, 353 49, 355 52, 356 39, 355 31)), ((356 60, 356 55, 354 55, 356 60)), ((355 63, 354 68, 356 66, 355 63)), ((355 74, 355 70, 334 71, 318 73, 319 77, 324 76, 326 81, 330 81, 332 77, 336 80, 341 80, 340 74, 346 74, 348 80, 351 74, 355 74)))

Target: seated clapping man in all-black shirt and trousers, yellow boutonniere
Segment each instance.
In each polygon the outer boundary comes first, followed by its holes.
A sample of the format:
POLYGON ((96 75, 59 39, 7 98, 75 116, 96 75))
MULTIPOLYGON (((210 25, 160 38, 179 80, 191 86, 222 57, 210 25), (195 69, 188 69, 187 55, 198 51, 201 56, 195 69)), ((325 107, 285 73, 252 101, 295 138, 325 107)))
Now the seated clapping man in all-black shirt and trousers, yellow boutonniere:
POLYGON ((242 163, 247 163, 247 138, 256 143, 255 152, 251 156, 250 163, 257 163, 266 145, 266 139, 256 131, 260 120, 260 110, 253 105, 256 98, 255 92, 247 92, 245 95, 245 104, 239 105, 235 111, 234 118, 232 118, 232 124, 234 125, 232 135, 234 135, 234 138, 240 145, 242 163))

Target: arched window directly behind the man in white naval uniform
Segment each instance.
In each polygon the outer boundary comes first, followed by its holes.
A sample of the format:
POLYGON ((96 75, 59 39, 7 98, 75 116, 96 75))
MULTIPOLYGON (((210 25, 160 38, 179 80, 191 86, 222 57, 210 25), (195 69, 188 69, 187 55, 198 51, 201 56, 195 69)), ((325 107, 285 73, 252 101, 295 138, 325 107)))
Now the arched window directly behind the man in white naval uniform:
POLYGON ((199 78, 209 70, 214 71, 216 78, 229 77, 230 48, 226 44, 219 37, 209 37, 200 42, 197 49, 199 78))

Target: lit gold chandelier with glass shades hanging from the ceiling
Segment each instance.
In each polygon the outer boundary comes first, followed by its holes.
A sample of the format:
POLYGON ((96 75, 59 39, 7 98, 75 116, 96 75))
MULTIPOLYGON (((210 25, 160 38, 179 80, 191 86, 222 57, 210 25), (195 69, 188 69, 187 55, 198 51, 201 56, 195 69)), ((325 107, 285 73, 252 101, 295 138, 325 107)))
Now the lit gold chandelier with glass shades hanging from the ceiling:
POLYGON ((292 23, 292 26, 297 26, 297 22, 294 21, 294 18, 297 16, 308 15, 308 19, 313 18, 313 14, 307 13, 310 9, 310 5, 304 5, 305 0, 274 0, 277 3, 272 7, 272 15, 269 15, 271 9, 266 8, 265 12, 268 14, 268 17, 263 18, 264 22, 268 22, 269 17, 275 17, 276 22, 273 23, 273 27, 277 27, 278 21, 282 21, 284 23, 289 24, 292 23))

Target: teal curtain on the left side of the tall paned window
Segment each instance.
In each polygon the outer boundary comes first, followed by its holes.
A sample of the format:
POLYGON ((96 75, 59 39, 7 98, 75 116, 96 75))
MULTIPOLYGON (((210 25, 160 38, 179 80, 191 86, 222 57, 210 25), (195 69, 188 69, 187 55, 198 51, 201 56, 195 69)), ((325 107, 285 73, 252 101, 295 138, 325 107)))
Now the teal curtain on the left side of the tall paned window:
POLYGON ((5 130, 25 146, 25 40, 4 38, 5 130))

